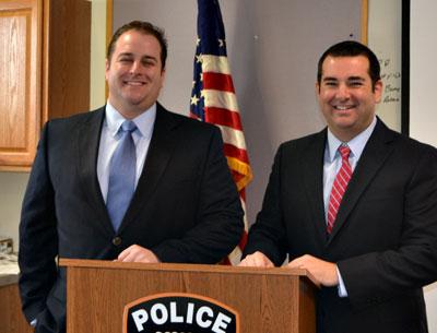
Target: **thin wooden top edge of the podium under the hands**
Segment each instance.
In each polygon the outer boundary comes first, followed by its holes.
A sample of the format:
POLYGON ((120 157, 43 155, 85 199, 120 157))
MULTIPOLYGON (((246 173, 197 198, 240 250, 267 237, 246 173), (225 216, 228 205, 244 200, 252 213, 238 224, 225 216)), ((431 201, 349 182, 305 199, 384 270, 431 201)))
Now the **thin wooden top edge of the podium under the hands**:
POLYGON ((287 267, 241 267, 231 265, 211 264, 186 264, 186 263, 140 263, 140 262, 118 262, 108 260, 85 260, 85 259, 59 259, 59 265, 64 267, 84 269, 109 269, 109 270, 141 270, 141 271, 185 271, 221 274, 262 274, 262 275, 290 275, 308 278, 315 285, 316 280, 307 270, 287 267))

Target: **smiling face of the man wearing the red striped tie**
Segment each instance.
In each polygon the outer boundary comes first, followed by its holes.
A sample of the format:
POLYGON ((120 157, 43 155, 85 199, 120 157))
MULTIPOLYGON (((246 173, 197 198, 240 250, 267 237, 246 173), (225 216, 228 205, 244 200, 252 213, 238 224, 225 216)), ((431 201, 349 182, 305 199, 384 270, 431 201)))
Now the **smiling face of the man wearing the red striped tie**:
POLYGON ((329 129, 341 141, 350 141, 371 122, 380 102, 382 82, 371 88, 369 61, 364 56, 327 57, 316 94, 329 129))

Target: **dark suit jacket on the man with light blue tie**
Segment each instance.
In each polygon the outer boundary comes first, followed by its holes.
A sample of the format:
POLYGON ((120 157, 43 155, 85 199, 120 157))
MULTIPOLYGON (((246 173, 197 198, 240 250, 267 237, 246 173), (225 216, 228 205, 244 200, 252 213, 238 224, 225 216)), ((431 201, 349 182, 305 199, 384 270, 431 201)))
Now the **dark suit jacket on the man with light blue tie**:
POLYGON ((20 224, 20 289, 36 332, 63 332, 66 278, 55 258, 113 260, 131 245, 163 262, 215 263, 238 243, 243 211, 220 130, 157 105, 153 135, 117 233, 96 163, 105 108, 46 124, 20 224))

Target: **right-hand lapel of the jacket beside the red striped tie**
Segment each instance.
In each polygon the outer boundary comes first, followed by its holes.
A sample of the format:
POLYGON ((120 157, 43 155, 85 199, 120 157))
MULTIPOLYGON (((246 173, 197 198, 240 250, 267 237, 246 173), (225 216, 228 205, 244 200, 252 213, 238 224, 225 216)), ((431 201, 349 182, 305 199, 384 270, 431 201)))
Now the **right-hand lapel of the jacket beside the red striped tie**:
POLYGON ((371 183, 375 175, 391 154, 393 146, 389 143, 393 141, 393 138, 392 131, 378 119, 374 133, 370 135, 363 151, 346 192, 344 193, 328 243, 331 242, 339 230, 347 223, 347 216, 355 207, 361 195, 371 183))

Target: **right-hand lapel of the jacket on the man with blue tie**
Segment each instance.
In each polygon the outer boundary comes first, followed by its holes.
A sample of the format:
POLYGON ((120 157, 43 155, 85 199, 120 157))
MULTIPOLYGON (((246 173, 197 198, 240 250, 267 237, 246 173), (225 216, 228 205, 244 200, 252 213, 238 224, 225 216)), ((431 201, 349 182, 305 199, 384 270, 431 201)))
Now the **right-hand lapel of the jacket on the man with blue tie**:
POLYGON ((160 104, 156 106, 156 120, 143 171, 130 206, 120 225, 120 231, 144 210, 144 206, 151 203, 151 198, 165 173, 177 142, 177 138, 170 133, 177 126, 177 120, 160 104))

